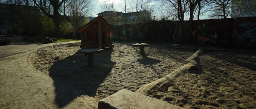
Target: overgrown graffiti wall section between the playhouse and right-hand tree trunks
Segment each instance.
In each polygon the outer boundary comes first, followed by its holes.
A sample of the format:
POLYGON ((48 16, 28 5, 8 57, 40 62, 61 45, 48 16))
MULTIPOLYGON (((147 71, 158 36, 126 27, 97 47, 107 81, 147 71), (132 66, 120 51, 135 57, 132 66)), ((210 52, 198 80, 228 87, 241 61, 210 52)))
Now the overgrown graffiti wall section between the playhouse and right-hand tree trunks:
POLYGON ((119 39, 156 42, 182 40, 180 27, 177 22, 170 20, 148 20, 140 24, 116 25, 115 28, 119 39))

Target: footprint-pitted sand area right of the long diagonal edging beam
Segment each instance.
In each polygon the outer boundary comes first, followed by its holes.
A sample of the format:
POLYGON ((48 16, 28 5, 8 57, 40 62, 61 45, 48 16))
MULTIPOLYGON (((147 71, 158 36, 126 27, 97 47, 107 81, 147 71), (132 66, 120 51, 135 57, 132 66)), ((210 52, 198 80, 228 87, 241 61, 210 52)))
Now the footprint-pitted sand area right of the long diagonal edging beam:
POLYGON ((186 109, 256 109, 255 53, 213 51, 199 56, 198 64, 147 95, 186 109))

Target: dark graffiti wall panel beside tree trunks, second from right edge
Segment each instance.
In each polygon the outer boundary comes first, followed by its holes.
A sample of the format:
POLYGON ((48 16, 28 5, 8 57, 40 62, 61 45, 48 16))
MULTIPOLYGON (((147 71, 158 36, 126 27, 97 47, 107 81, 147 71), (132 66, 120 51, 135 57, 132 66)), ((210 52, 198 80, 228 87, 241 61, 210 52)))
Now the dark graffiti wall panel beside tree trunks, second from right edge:
POLYGON ((211 19, 195 21, 196 42, 201 45, 227 45, 234 41, 233 19, 211 19))

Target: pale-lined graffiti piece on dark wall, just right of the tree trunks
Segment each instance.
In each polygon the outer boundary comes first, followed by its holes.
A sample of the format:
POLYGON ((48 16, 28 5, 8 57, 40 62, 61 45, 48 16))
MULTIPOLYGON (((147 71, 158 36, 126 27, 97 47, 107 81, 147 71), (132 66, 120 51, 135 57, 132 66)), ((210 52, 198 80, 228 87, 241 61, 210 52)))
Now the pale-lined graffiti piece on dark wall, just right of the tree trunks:
MULTIPOLYGON (((198 44, 206 45, 206 44, 216 44, 216 39, 218 38, 218 34, 208 30, 208 26, 205 23, 201 23, 198 25, 197 32, 197 42, 198 44)), ((194 36, 194 35, 193 35, 194 36)))

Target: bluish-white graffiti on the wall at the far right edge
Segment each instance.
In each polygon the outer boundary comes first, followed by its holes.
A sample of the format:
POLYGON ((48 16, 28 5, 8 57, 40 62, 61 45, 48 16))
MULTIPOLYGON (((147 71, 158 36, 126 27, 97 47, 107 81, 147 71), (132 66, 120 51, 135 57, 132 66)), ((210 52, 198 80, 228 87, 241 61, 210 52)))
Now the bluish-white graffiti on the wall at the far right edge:
POLYGON ((244 46, 256 46, 256 23, 241 22, 236 29, 238 43, 244 46))

